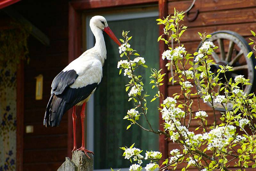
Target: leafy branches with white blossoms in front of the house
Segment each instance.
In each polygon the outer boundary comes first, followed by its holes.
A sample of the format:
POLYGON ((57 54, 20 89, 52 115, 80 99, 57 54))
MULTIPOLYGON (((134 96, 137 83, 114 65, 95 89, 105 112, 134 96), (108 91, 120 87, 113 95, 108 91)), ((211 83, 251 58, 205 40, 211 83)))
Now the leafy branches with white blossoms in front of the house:
MULTIPOLYGON (((161 152, 150 151, 146 152, 135 148, 134 144, 130 147, 121 147, 124 150, 124 159, 131 161, 130 171, 141 171, 143 161, 149 161, 145 167, 147 171, 159 170, 175 170, 182 163, 182 171, 189 167, 195 167, 199 171, 213 170, 228 170, 228 167, 238 167, 243 170, 247 167, 256 167, 256 97, 252 94, 244 93, 244 86, 250 84, 248 79, 243 75, 238 75, 234 80, 228 79, 226 73, 232 71, 231 66, 220 66, 216 73, 210 71, 210 66, 215 65, 211 59, 212 52, 218 47, 212 42, 207 41, 211 35, 199 33, 202 40, 202 46, 199 51, 193 55, 186 51, 186 48, 180 42, 180 37, 186 31, 187 27, 182 25, 184 13, 174 9, 173 16, 167 16, 164 19, 157 19, 157 24, 163 24, 163 35, 158 38, 158 41, 164 41, 168 45, 168 50, 162 54, 163 60, 167 59, 168 70, 173 69, 173 77, 170 82, 180 84, 181 92, 173 94, 172 97, 164 99, 160 86, 163 85, 165 73, 162 74, 162 69, 159 71, 151 69, 152 89, 156 89, 156 95, 151 97, 151 102, 157 98, 163 99, 158 109, 162 113, 164 120, 164 131, 154 130, 148 121, 148 101, 149 95, 143 89, 143 78, 141 75, 136 75, 135 70, 138 67, 148 66, 145 64, 144 58, 131 48, 128 43, 132 36, 128 36, 129 31, 123 31, 123 43, 119 47, 119 53, 122 60, 117 64, 120 69, 119 74, 130 78, 125 87, 128 92, 129 100, 134 102, 134 108, 129 109, 125 120, 129 120, 127 126, 139 126, 145 131, 155 134, 164 134, 166 138, 173 143, 180 145, 180 149, 172 149, 171 157, 162 158, 161 152), (172 34, 171 34, 172 33, 172 34), (172 49, 170 46, 171 40, 176 41, 177 47, 172 49), (124 59, 125 58, 125 59, 124 59), (185 68, 189 68, 185 70, 185 68), (220 76, 223 75, 223 76, 220 76), (220 82, 221 80, 221 82, 220 82), (193 93, 191 88, 196 88, 196 93, 193 93), (219 91, 216 91, 220 89, 219 91), (222 94, 220 94, 222 92, 222 94), (192 110, 193 98, 198 101, 198 112, 192 110), (208 114, 200 109, 199 99, 202 98, 204 103, 210 103, 214 120, 212 124, 208 124, 208 114), (195 98, 194 98, 195 99, 195 98), (180 104, 178 105, 177 102, 180 104), (226 112, 221 113, 221 117, 217 118, 215 104, 220 103, 226 112), (233 109, 228 111, 227 104, 233 104, 233 109), (142 112, 139 112, 140 111, 142 112), (138 120, 145 119, 148 123, 147 127, 140 125, 138 120), (221 122, 217 123, 217 119, 221 122), (197 120, 198 127, 191 128, 191 121, 197 120), (195 132, 201 132, 196 134, 195 132), (145 154, 143 156, 143 154, 145 154), (162 160, 162 165, 157 163, 162 160), (236 160, 236 162, 232 162, 236 160)), ((255 33, 252 31, 255 36, 255 33)), ((251 43, 256 43, 251 39, 251 43)), ((248 54, 248 58, 252 53, 248 54)), ((150 103, 149 103, 150 104, 150 103)), ((156 117, 158 113, 156 113, 156 117)), ((111 169, 113 171, 113 169, 111 169)))

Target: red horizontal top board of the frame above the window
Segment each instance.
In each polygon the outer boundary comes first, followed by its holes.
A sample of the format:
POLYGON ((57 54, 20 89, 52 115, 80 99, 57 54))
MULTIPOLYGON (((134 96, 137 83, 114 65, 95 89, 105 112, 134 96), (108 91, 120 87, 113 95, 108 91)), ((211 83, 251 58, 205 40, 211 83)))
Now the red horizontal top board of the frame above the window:
POLYGON ((76 10, 87 10, 96 8, 106 8, 106 7, 117 7, 117 6, 127 6, 127 5, 139 5, 139 4, 152 4, 156 3, 157 0, 78 0, 72 1, 71 5, 76 10))

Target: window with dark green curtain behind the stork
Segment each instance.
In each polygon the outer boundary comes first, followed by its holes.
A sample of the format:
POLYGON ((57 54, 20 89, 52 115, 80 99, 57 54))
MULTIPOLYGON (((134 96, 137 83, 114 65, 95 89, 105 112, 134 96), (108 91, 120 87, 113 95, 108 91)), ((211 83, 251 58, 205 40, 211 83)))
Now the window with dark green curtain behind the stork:
MULTIPOLYGON (((134 47, 146 60, 149 68, 159 68, 158 64, 158 26, 156 19, 158 12, 132 13, 122 15, 104 15, 109 27, 117 38, 122 38, 122 30, 130 31, 131 46, 134 47)), ((87 17, 89 23, 91 17, 87 17)), ((88 29, 88 28, 87 28, 88 29)), ((88 32, 87 32, 88 33, 88 32)), ((92 34, 92 33, 91 33, 92 34)), ((88 36, 87 41, 92 42, 92 35, 88 36)), ((144 151, 158 150, 158 136, 141 130, 133 125, 130 129, 126 127, 130 124, 128 120, 123 120, 127 110, 133 108, 132 101, 128 102, 128 92, 124 85, 129 79, 119 75, 117 62, 121 59, 118 47, 108 35, 104 34, 107 59, 103 66, 103 78, 99 89, 94 93, 94 97, 88 102, 87 120, 87 148, 94 151, 94 169, 124 168, 130 166, 130 161, 122 157, 122 146, 130 146, 135 142, 135 146, 144 151), (93 132, 92 133, 92 128, 93 132), (152 148, 153 149, 150 149, 152 148)), ((89 43, 88 43, 89 45, 89 43)), ((92 42, 93 46, 94 43, 92 42)), ((91 46, 91 47, 92 47, 91 46)), ((137 72, 142 73, 144 90, 154 96, 156 90, 152 90, 149 85, 150 69, 140 68, 137 72)), ((153 128, 158 129, 158 110, 159 101, 150 103, 148 97, 148 118, 153 128)), ((143 117, 143 116, 141 116, 143 117)), ((148 128, 145 120, 140 123, 148 128)), ((144 163, 145 165, 145 163, 144 163)))

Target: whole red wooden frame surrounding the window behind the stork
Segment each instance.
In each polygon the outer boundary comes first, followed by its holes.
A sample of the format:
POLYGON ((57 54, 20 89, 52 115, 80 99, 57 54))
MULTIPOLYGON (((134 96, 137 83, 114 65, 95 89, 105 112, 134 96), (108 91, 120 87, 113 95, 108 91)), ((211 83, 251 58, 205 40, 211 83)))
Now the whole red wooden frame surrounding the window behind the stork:
MULTIPOLYGON (((134 5, 147 5, 147 4, 157 4, 159 8, 159 18, 163 18, 167 15, 167 0, 80 0, 71 1, 68 5, 68 62, 70 63, 83 53, 82 44, 82 12, 85 10, 94 9, 104 9, 109 7, 124 7, 124 6, 134 6, 134 5)), ((162 25, 160 25, 159 35, 162 34, 162 25)), ((159 43, 159 67, 163 68, 163 72, 166 73, 166 61, 162 60, 161 55, 165 49, 164 42, 159 43)), ((161 86, 161 90, 164 97, 167 96, 167 78, 164 79, 164 86, 161 86)), ((160 103, 162 101, 160 100, 160 103)), ((162 115, 159 113, 159 128, 163 130, 162 115)), ((71 156, 71 151, 73 149, 73 120, 72 111, 68 111, 68 156, 71 156)), ((163 153, 163 157, 167 158, 167 140, 164 135, 159 136, 159 151, 163 153)))

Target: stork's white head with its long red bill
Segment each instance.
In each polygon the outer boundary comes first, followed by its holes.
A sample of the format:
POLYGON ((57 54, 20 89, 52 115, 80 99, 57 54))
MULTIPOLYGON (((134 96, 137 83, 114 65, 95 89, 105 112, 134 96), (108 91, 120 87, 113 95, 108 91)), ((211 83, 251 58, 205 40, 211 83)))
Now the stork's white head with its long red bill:
POLYGON ((92 29, 92 32, 93 32, 93 29, 100 29, 105 31, 114 42, 116 42, 119 46, 121 46, 121 43, 116 38, 114 33, 111 31, 111 29, 108 27, 107 20, 103 16, 96 15, 92 17, 90 20, 90 27, 92 29))

